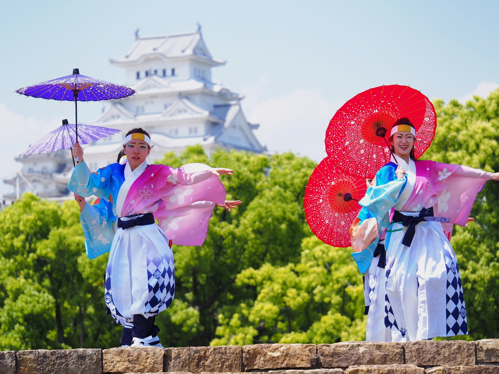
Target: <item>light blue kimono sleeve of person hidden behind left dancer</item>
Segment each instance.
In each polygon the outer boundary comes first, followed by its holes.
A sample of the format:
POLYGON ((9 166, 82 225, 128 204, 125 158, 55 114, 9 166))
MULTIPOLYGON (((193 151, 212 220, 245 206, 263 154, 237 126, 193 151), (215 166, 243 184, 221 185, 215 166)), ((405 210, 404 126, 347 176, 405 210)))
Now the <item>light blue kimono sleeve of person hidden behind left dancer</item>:
POLYGON ((89 259, 109 252, 114 237, 115 220, 113 205, 109 201, 101 198, 96 205, 85 205, 80 214, 80 222, 89 259))

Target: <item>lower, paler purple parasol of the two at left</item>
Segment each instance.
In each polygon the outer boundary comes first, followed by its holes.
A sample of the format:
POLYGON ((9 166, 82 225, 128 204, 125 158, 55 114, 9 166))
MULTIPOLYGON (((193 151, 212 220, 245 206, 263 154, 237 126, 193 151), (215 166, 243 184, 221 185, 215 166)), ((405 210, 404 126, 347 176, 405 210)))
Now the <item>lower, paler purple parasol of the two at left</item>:
MULTIPOLYGON (((80 144, 92 143, 93 141, 120 132, 120 130, 116 129, 91 125, 80 125, 79 128, 80 144)), ((35 153, 47 153, 59 151, 61 149, 68 149, 73 147, 74 143, 76 143, 76 125, 70 125, 67 120, 62 120, 61 127, 58 127, 54 131, 51 131, 45 135, 34 145, 21 153, 19 157, 33 155, 35 153)))

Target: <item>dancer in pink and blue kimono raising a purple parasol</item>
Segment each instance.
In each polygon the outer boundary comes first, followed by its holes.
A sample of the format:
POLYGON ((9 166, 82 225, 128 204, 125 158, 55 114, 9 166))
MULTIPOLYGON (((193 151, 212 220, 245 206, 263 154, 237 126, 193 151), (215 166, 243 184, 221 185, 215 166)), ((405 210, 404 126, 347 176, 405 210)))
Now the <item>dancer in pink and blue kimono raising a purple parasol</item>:
POLYGON ((175 293, 170 240, 180 245, 203 243, 213 203, 225 204, 225 188, 218 177, 234 171, 201 164, 180 170, 147 165, 151 139, 140 128, 126 134, 123 147, 125 165, 111 164, 92 174, 76 143, 72 153, 80 163, 68 189, 84 197, 95 194, 112 200, 113 213, 119 218, 106 267, 104 299, 117 323, 132 324, 132 346, 157 346, 155 317, 170 306, 175 293), (192 207, 197 201, 207 203, 192 207))

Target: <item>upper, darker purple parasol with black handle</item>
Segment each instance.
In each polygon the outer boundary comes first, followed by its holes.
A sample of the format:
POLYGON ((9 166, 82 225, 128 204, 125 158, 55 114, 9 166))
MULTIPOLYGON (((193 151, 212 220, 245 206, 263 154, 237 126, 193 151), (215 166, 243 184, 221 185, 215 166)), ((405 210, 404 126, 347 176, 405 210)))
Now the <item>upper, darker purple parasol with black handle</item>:
POLYGON ((76 140, 78 140, 77 101, 122 99, 135 94, 135 90, 131 88, 80 75, 79 69, 73 69, 72 75, 19 88, 15 92, 25 96, 41 97, 43 99, 61 101, 74 100, 76 140))

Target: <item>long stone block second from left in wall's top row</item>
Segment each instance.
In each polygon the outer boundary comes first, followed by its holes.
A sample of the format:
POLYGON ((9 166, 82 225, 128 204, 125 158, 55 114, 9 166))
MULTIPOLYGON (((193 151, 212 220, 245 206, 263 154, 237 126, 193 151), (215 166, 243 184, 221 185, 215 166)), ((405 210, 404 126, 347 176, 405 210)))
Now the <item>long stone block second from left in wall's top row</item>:
POLYGON ((101 374, 99 349, 17 352, 17 374, 101 374))

